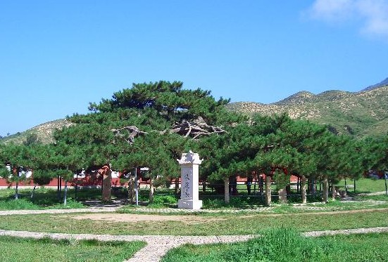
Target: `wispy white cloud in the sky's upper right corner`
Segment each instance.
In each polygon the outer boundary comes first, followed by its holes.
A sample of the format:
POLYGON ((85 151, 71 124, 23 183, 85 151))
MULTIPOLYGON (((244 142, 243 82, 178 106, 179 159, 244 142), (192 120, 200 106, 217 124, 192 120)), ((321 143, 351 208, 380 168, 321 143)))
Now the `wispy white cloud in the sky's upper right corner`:
POLYGON ((363 34, 388 40, 388 0, 315 0, 308 14, 330 23, 361 20, 363 34))

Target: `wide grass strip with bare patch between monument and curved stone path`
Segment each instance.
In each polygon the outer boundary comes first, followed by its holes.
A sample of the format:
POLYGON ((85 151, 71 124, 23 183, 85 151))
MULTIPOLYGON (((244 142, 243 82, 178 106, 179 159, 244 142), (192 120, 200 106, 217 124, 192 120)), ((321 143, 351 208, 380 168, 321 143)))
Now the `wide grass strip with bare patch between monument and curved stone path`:
MULTIPOLYGON (((113 235, 249 235, 265 228, 284 226, 299 232, 388 226, 388 209, 306 214, 192 214, 163 216, 156 221, 92 220, 82 214, 34 214, 1 216, 0 229, 35 232, 113 235)), ((110 214, 109 216, 113 216, 110 214)), ((130 216, 130 215, 128 215, 130 216)))

